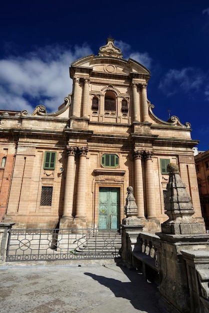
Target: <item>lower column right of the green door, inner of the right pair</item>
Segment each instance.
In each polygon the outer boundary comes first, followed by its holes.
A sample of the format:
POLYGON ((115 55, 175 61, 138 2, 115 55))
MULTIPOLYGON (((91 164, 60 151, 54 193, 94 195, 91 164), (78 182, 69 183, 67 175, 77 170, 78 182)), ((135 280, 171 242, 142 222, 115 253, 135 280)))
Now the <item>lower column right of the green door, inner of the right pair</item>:
POLYGON ((143 202, 143 178, 141 157, 143 150, 134 150, 134 174, 135 174, 135 200, 138 207, 138 217, 144 218, 144 202, 143 202))

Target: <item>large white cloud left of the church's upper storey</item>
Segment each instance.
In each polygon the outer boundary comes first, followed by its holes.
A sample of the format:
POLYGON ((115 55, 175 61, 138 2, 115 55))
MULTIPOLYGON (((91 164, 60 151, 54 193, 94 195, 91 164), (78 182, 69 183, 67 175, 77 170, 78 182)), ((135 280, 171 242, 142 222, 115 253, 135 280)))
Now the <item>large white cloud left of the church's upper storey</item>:
POLYGON ((91 54, 82 46, 45 46, 21 57, 9 56, 0 60, 0 108, 27 109, 43 104, 48 111, 57 110, 71 92, 70 63, 91 54))

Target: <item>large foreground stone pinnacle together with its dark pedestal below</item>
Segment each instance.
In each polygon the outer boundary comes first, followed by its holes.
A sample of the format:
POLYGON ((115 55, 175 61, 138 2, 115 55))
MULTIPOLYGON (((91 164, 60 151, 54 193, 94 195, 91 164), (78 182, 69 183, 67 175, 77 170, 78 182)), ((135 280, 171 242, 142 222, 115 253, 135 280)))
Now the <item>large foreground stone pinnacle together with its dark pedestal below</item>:
POLYGON ((209 252, 209 234, 204 232, 202 224, 192 218, 193 205, 181 181, 178 166, 170 163, 167 171, 169 182, 165 213, 169 219, 161 224, 161 232, 156 233, 161 242, 160 302, 172 313, 196 313, 189 295, 189 281, 181 250, 189 249, 192 252, 201 249, 209 252))

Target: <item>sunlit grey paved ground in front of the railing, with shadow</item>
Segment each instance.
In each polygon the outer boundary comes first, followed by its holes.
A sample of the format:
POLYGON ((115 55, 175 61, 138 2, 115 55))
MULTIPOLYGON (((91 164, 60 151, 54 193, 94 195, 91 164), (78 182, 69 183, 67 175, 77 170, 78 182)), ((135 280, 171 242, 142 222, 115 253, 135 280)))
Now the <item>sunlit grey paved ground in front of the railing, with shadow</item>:
POLYGON ((0 267, 0 312, 161 313, 157 289, 116 265, 0 267))

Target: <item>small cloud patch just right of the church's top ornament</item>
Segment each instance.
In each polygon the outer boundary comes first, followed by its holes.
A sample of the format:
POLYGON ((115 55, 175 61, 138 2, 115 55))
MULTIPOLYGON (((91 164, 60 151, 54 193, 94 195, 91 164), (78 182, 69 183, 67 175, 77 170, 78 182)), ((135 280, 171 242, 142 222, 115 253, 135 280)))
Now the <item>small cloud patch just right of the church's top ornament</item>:
POLYGON ((147 52, 131 51, 131 46, 122 40, 115 40, 114 45, 122 50, 123 58, 130 57, 150 69, 152 59, 147 52))

